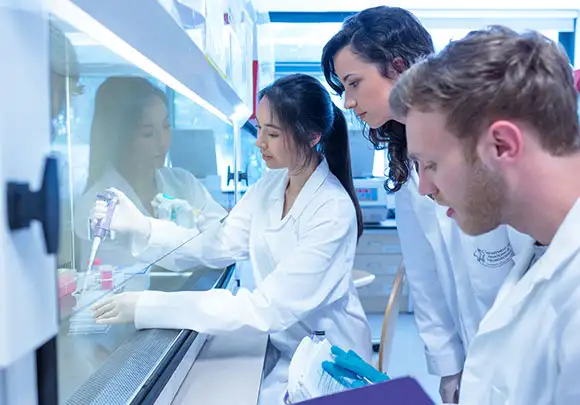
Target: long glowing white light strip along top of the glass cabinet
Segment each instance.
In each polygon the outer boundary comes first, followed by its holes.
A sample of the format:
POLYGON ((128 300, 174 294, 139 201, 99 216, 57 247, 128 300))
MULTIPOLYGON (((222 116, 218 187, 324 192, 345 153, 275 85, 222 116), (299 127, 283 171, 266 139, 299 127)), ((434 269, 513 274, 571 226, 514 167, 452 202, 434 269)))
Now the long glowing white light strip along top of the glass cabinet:
POLYGON ((189 87, 177 80, 170 73, 163 70, 159 65, 153 63, 150 59, 137 51, 131 45, 123 41, 116 34, 95 20, 76 4, 69 0, 52 0, 50 2, 50 12, 56 17, 71 24, 79 31, 84 32, 102 46, 109 48, 111 51, 115 52, 117 55, 121 56, 128 62, 150 74, 157 80, 165 83, 173 90, 181 93, 183 96, 187 97, 194 103, 197 103, 202 108, 215 115, 225 123, 230 125, 232 124, 231 120, 224 113, 198 96, 189 87))

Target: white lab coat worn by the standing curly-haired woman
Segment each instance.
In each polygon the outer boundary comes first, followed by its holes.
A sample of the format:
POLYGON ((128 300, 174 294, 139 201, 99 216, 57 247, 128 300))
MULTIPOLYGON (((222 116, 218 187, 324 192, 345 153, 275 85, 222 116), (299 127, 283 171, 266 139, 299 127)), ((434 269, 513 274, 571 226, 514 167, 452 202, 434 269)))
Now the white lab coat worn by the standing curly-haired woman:
POLYGON ((395 194, 397 229, 431 374, 461 371, 467 348, 513 266, 533 240, 506 226, 478 237, 464 234, 418 191, 418 176, 395 194), (478 260, 479 259, 479 260, 478 260))

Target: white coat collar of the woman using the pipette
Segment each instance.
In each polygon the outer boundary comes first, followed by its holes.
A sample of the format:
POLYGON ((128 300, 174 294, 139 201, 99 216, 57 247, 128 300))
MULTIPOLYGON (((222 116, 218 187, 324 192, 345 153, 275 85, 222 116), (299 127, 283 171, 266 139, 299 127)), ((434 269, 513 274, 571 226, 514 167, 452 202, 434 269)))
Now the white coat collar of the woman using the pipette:
POLYGON ((302 212, 306 209, 312 196, 320 188, 322 183, 328 177, 330 168, 328 167, 328 162, 326 159, 322 159, 318 167, 314 170, 310 178, 300 190, 296 201, 290 208, 288 215, 282 219, 282 211, 284 209, 284 195, 286 192, 286 186, 288 185, 288 171, 285 172, 284 177, 281 179, 280 183, 277 184, 272 193, 270 194, 270 206, 268 208, 268 215, 270 217, 270 223, 279 223, 280 226, 284 225, 289 218, 297 219, 300 217, 302 212))

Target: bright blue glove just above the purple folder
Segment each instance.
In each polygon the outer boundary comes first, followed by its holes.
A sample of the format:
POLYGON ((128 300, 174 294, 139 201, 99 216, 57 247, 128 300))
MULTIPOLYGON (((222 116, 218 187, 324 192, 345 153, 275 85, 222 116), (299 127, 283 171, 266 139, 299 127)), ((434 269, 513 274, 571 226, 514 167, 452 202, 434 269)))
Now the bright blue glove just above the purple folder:
MULTIPOLYGON (((388 381, 389 377, 365 362, 354 351, 345 352, 337 346, 332 346, 331 352, 334 355, 334 363, 323 362, 322 367, 338 382, 344 385, 344 378, 355 377, 359 382, 350 383, 350 387, 363 386, 388 381), (361 384, 362 382, 362 384, 361 384)), ((346 385, 345 385, 346 386, 346 385)))

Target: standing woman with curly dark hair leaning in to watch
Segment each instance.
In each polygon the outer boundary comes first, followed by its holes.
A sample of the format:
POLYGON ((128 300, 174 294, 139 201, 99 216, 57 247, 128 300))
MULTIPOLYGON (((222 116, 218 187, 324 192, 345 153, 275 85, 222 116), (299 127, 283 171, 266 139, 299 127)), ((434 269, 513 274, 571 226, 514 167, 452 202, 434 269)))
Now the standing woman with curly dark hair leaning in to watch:
POLYGON ((344 22, 324 47, 322 69, 375 149, 388 152, 385 188, 396 192, 397 227, 428 369, 441 377, 443 402, 453 403, 469 343, 513 266, 512 244, 517 248, 527 239, 511 229, 508 236, 506 227, 469 237, 445 209, 419 194, 405 124, 393 119, 388 101, 398 77, 433 52, 431 36, 413 14, 380 6, 344 22))

